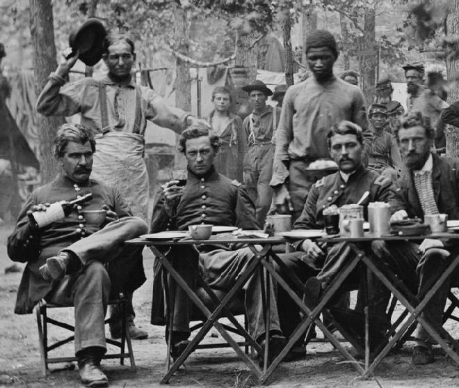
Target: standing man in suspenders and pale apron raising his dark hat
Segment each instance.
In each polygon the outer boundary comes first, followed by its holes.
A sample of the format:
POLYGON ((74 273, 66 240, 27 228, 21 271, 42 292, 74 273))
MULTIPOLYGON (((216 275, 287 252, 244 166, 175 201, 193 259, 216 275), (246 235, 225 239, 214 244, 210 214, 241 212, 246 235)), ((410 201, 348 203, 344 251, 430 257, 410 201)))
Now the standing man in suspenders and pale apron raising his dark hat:
MULTIPOLYGON (((197 121, 191 114, 170 107, 150 88, 137 86, 132 67, 136 62, 134 42, 126 35, 108 35, 97 19, 81 26, 62 56, 55 72, 38 96, 37 111, 45 116, 80 114, 81 124, 95 134, 97 153, 92 175, 117 187, 134 215, 147 221, 149 184, 145 161, 144 133, 147 120, 180 133, 197 121), (94 37, 90 49, 84 37, 94 37), (70 69, 81 59, 95 65, 104 59, 108 74, 102 80, 92 77, 66 82, 70 69)), ((137 260, 142 264, 142 256, 137 260)), ((132 295, 127 295, 132 300, 132 295)), ((111 325, 113 338, 119 338, 120 325, 111 325)), ((147 332, 134 325, 134 309, 129 318, 133 339, 147 338, 147 332)))

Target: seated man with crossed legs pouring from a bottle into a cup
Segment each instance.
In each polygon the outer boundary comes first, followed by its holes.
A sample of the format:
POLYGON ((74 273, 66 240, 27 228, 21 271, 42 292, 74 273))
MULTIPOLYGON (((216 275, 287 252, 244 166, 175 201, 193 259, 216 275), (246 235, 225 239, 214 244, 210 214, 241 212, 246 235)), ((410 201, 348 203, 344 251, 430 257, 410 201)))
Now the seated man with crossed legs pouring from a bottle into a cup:
MULTIPOLYGON (((106 352, 104 319, 110 295, 133 292, 145 281, 139 248, 122 243, 146 233, 147 225, 131 212, 118 191, 90 179, 95 140, 81 125, 64 124, 57 132, 55 155, 61 172, 32 192, 8 237, 8 256, 27 263, 17 290, 15 313, 31 313, 42 298, 75 309, 75 355, 83 384, 106 387, 100 367, 106 352), (72 201, 92 193, 92 200, 56 221, 38 223, 31 212, 45 203, 72 201), (83 210, 106 209, 102 225, 87 224, 83 210), (106 267, 104 264, 110 262, 106 267)), ((35 213, 36 214, 36 213, 35 213)))

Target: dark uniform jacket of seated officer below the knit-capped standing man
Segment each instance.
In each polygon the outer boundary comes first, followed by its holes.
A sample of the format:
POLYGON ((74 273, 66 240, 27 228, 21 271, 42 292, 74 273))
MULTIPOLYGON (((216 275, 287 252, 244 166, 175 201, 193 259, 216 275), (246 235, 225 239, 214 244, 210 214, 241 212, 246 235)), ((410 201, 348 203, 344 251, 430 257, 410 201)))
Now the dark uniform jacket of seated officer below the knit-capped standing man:
POLYGON ((379 175, 376 171, 368 170, 361 166, 344 182, 339 171, 325 176, 317 181, 307 195, 305 207, 300 217, 296 220, 295 229, 321 229, 323 224, 323 209, 330 205, 347 205, 357 203, 364 192, 369 190, 370 195, 362 203, 365 218, 367 218, 367 205, 370 202, 385 202, 389 197, 391 181, 379 175))

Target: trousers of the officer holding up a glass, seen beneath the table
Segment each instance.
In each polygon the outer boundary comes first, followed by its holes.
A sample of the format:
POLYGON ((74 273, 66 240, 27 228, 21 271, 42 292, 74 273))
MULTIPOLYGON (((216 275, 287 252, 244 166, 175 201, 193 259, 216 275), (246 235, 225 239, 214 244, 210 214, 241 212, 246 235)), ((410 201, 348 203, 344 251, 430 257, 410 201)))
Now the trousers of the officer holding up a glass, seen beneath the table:
MULTIPOLYGON (((245 272, 250 263, 253 253, 249 248, 241 248, 235 251, 215 249, 208 252, 198 252, 194 247, 174 247, 171 254, 174 256, 174 266, 177 272, 184 278, 186 283, 195 288, 196 280, 190 271, 190 265, 198 266, 202 279, 214 290, 230 291, 234 283, 245 272)), ((177 332, 189 332, 189 322, 192 317, 192 303, 181 287, 176 286, 174 320, 172 330, 177 332)), ((245 291, 244 307, 248 320, 248 332, 259 339, 265 333, 264 311, 262 302, 260 268, 249 277, 243 286, 245 291)), ((271 297, 271 331, 280 332, 279 316, 275 288, 271 283, 268 292, 271 297)))

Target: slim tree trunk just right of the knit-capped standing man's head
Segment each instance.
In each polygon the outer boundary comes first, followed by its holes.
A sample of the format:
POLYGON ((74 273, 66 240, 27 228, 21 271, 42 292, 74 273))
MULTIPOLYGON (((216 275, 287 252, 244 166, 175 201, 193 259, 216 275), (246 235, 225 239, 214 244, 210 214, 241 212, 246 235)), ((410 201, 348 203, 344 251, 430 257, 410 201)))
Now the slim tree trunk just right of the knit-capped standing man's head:
POLYGON ((376 84, 376 33, 375 33, 375 8, 367 6, 364 9, 364 36, 362 39, 364 52, 360 56, 360 68, 362 71, 362 91, 371 104, 375 95, 376 84))

